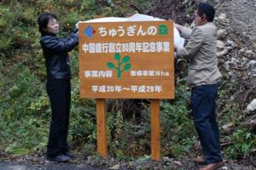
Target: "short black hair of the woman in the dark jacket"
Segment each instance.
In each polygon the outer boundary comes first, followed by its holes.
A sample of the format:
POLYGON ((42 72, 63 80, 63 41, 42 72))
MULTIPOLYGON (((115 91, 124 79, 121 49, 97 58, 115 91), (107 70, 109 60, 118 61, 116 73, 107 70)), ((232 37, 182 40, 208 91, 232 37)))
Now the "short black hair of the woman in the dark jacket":
POLYGON ((39 14, 38 26, 39 26, 39 31, 41 32, 42 35, 46 33, 44 29, 47 27, 49 20, 52 20, 52 19, 57 20, 57 17, 55 14, 50 14, 50 13, 39 14))

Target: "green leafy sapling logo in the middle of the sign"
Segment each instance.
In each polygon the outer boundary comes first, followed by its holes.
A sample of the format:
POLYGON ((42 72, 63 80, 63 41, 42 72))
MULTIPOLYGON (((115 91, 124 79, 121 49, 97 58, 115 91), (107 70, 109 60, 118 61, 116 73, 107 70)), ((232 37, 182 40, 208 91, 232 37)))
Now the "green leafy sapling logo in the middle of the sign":
POLYGON ((112 62, 108 62, 107 66, 110 69, 116 70, 117 77, 120 78, 124 71, 129 71, 131 69, 131 63, 129 63, 130 56, 125 56, 123 59, 121 59, 121 55, 117 53, 117 54, 114 54, 113 58, 118 61, 117 66, 114 65, 112 62), (122 69, 121 67, 124 64, 125 64, 125 66, 122 69))

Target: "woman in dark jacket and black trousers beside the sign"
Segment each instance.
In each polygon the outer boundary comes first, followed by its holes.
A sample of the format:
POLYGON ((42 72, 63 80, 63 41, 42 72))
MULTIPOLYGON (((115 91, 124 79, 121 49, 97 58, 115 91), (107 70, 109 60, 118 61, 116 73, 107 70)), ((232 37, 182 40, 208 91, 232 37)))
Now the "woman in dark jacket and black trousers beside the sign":
POLYGON ((79 43, 78 26, 67 38, 56 37, 59 24, 55 14, 40 14, 38 17, 40 39, 47 71, 47 94, 51 105, 51 122, 47 157, 51 161, 68 161, 73 157, 67 146, 70 112, 70 67, 69 56, 79 43))

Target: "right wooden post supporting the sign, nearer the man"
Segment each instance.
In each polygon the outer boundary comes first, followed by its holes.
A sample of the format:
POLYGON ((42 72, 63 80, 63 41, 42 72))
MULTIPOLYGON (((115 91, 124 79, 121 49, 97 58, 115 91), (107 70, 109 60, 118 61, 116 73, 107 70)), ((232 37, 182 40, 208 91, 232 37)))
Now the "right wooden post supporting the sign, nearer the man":
POLYGON ((150 100, 151 159, 160 161, 160 99, 150 100))

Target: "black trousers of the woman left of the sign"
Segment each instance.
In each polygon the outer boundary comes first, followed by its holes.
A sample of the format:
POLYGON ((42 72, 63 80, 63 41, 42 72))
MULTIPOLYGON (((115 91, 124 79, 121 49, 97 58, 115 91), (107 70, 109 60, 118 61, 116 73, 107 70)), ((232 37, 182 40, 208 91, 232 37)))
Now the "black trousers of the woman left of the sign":
POLYGON ((46 88, 52 111, 47 156, 55 157, 68 151, 67 131, 71 98, 70 80, 48 80, 46 88))

